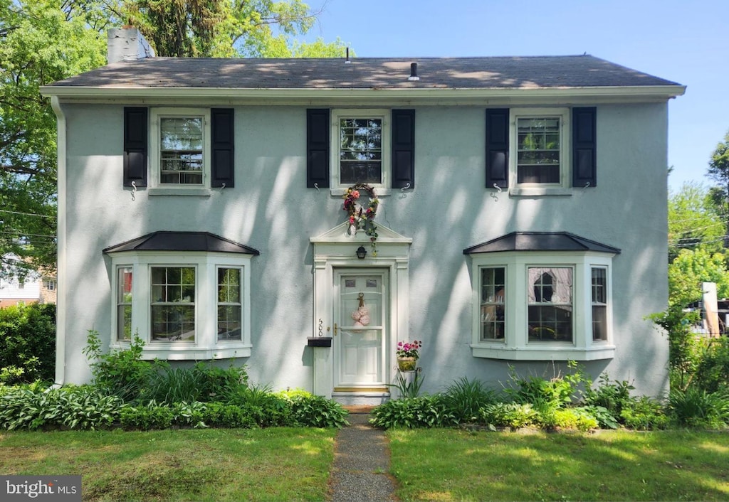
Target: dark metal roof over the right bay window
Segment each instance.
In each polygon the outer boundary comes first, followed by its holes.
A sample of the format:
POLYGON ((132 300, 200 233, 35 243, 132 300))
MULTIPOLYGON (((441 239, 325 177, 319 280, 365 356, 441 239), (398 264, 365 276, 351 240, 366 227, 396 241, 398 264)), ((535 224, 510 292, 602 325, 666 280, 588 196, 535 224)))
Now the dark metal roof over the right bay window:
POLYGON ((569 232, 511 232, 464 249, 463 254, 498 251, 599 251, 619 254, 620 249, 569 232))

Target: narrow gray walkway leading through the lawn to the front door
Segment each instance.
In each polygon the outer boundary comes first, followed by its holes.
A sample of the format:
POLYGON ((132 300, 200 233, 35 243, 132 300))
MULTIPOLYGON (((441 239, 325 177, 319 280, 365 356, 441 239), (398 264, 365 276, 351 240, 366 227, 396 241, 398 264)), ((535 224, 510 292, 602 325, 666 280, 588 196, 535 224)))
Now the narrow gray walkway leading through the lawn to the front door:
POLYGON ((329 482, 332 502, 397 501, 395 483, 388 474, 387 439, 367 422, 369 418, 369 410, 352 410, 350 425, 337 434, 329 482))

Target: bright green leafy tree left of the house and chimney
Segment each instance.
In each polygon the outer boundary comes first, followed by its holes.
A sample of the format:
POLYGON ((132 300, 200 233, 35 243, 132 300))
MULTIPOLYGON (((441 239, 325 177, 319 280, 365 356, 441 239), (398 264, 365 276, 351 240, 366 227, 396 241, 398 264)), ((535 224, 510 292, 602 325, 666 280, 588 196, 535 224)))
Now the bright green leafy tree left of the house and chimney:
POLYGON ((55 267, 55 115, 39 87, 104 64, 84 3, 0 0, 0 272, 55 267))

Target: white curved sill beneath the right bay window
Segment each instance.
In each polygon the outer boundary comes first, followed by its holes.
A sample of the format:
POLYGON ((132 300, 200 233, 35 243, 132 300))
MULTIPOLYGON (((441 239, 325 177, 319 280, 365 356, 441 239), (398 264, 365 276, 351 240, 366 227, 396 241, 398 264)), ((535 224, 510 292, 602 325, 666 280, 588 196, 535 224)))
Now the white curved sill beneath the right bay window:
POLYGON ((504 347, 496 345, 471 345, 472 356, 507 361, 598 361, 615 357, 615 345, 592 348, 563 347, 554 345, 543 348, 504 347))

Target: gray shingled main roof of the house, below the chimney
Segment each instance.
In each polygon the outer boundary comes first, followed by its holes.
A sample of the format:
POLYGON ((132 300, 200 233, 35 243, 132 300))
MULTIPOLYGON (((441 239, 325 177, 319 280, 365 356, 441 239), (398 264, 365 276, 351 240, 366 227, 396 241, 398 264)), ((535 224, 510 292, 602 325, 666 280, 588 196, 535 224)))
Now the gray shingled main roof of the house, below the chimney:
POLYGON ((49 87, 250 89, 534 89, 679 86, 591 55, 499 58, 147 58, 49 87), (409 82, 418 63, 417 82, 409 82))

